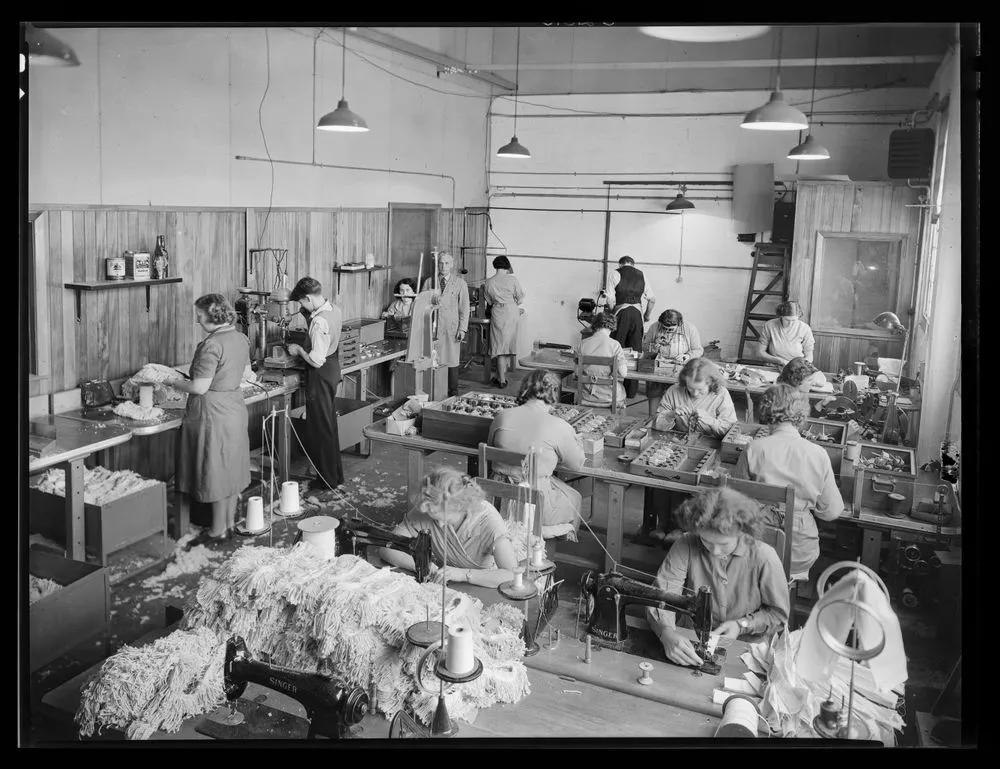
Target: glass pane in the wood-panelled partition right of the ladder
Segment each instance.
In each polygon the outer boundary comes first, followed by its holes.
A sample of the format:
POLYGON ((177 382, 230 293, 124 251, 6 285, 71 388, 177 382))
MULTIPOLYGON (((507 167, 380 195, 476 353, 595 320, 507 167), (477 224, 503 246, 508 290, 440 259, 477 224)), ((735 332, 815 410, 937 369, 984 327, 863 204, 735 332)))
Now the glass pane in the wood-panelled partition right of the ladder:
POLYGON ((812 325, 871 328, 880 312, 895 311, 899 257, 899 241, 824 238, 812 325))

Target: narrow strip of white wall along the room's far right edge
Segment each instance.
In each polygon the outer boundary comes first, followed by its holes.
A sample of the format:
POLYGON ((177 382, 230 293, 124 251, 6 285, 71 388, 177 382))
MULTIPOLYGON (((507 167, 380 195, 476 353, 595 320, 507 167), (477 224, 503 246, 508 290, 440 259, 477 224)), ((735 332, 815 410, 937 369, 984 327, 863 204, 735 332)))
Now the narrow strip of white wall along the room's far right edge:
MULTIPOLYGON (((926 333, 917 330, 913 355, 923 377, 923 404, 920 415, 918 461, 936 459, 945 437, 958 439, 962 432, 962 399, 954 396, 951 428, 948 408, 952 390, 962 366, 962 157, 961 80, 957 55, 950 56, 938 71, 930 92, 942 98, 950 94, 948 144, 945 147, 944 194, 938 222, 938 243, 934 294, 926 333)), ((943 125, 938 130, 944 130, 943 125)), ((923 253, 930 245, 923 244, 923 253)), ((959 393, 961 380, 959 378, 959 393)))

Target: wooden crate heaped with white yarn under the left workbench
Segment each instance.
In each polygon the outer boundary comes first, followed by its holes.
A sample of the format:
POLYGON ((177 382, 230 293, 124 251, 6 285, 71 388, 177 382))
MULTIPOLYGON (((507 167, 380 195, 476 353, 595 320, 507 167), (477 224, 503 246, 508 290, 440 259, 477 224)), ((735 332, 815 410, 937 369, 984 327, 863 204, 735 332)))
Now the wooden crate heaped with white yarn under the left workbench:
MULTIPOLYGON (((66 544, 66 499, 29 490, 29 529, 33 534, 66 544)), ((84 543, 88 555, 107 565, 108 555, 153 534, 167 536, 167 487, 156 483, 103 505, 84 504, 84 543)))

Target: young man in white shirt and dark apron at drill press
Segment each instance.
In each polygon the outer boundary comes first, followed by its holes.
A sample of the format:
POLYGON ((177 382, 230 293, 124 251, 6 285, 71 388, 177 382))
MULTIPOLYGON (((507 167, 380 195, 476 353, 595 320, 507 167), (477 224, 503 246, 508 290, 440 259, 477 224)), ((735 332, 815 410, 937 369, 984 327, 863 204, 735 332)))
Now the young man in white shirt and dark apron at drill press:
POLYGON ((344 482, 340 461, 340 434, 337 431, 337 385, 340 359, 337 346, 343 318, 340 308, 323 298, 323 286, 315 278, 302 278, 292 289, 291 300, 309 312, 306 346, 288 346, 306 364, 305 448, 316 469, 311 491, 327 491, 344 482))

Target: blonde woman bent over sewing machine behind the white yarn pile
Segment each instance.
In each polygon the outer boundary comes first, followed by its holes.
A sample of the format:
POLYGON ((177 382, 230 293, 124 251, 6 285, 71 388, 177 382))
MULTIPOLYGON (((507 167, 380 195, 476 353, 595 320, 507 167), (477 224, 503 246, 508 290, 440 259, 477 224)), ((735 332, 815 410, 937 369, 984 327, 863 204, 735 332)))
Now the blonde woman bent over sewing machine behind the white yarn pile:
MULTIPOLYGON (((447 577, 452 583, 497 587, 514 578, 511 569, 517 566, 517 558, 503 518, 472 478, 450 467, 434 468, 424 478, 419 512, 407 513, 394 533, 415 537, 420 531, 429 532, 431 558, 440 567, 446 546, 442 526, 448 532, 448 566, 447 571, 435 571, 436 580, 447 577)), ((407 553, 384 548, 380 556, 393 566, 416 570, 407 553)))

